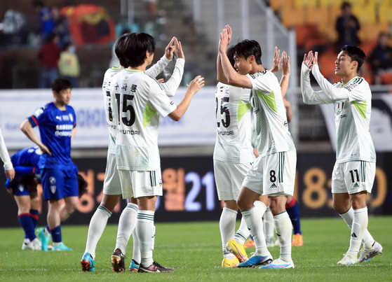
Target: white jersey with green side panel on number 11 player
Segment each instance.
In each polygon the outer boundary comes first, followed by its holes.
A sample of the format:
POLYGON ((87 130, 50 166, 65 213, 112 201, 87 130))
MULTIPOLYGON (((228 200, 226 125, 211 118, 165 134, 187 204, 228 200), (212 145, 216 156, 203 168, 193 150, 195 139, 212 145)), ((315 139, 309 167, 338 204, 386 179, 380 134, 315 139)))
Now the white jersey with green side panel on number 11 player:
POLYGON ((376 162, 376 153, 369 124, 372 113, 372 92, 367 81, 359 76, 349 83, 335 83, 348 90, 349 99, 334 101, 337 135, 337 162, 363 160, 376 162))

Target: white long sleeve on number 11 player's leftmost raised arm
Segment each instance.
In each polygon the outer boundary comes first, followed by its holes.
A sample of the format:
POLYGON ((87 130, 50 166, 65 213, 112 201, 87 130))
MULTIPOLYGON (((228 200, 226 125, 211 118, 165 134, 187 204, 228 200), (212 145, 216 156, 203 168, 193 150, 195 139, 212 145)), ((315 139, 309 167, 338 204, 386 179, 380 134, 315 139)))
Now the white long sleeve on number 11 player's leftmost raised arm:
POLYGON ((308 105, 332 104, 333 101, 331 97, 325 94, 325 92, 313 90, 313 88, 311 87, 310 73, 311 69, 309 69, 306 64, 302 63, 301 92, 304 103, 308 105))

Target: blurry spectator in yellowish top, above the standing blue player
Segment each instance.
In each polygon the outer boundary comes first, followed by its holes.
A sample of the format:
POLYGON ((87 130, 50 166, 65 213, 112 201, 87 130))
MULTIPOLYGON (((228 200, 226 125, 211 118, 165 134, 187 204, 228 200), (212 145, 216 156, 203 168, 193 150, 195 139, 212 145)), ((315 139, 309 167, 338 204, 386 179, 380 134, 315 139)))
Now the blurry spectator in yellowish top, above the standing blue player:
POLYGON ((80 74, 79 59, 76 56, 76 48, 72 43, 65 43, 62 46, 60 60, 58 61, 58 69, 60 76, 67 78, 72 87, 79 87, 77 78, 80 74))

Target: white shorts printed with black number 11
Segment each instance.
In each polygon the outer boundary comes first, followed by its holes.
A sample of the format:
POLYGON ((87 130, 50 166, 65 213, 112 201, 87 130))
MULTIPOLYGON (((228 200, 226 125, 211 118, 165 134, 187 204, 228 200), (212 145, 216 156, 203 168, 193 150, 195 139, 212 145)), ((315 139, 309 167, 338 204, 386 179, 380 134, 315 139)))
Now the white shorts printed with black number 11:
POLYGON ((332 171, 332 193, 371 193, 375 175, 375 162, 358 160, 335 163, 332 171))

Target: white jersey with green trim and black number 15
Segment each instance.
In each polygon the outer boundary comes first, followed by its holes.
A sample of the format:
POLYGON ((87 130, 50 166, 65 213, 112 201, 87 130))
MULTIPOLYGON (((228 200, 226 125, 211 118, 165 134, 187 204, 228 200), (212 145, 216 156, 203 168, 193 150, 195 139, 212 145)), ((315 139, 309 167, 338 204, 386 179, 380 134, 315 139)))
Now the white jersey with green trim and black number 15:
POLYGON ((124 69, 111 80, 110 94, 116 101, 116 164, 118 169, 161 169, 158 151, 159 115, 177 106, 160 83, 142 71, 124 69))

